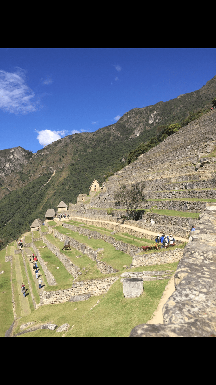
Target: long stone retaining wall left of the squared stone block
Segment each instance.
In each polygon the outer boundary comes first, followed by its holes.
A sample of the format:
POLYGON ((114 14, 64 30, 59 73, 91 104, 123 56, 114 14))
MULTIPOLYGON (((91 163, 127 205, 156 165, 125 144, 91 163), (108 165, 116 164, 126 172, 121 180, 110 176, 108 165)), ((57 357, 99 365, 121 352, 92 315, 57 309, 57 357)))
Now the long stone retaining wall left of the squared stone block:
POLYGON ((73 283, 71 288, 65 290, 44 290, 40 293, 40 304, 62 303, 69 301, 70 298, 75 295, 81 294, 101 295, 106 293, 116 280, 118 280, 118 277, 108 277, 92 281, 76 282, 73 283))

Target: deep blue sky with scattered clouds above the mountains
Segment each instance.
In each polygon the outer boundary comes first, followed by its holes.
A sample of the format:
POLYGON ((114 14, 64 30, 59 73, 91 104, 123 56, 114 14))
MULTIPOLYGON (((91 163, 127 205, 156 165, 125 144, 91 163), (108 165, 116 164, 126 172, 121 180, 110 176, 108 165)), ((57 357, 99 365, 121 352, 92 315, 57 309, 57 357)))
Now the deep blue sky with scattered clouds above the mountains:
POLYGON ((214 75, 215 48, 0 49, 0 149, 36 152, 214 75))

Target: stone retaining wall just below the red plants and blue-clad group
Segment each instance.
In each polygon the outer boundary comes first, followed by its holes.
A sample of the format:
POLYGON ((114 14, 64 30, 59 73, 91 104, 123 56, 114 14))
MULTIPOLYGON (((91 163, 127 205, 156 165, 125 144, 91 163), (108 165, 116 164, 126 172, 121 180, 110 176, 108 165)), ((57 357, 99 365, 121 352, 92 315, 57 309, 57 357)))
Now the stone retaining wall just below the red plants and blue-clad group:
POLYGON ((153 254, 134 255, 131 267, 151 266, 155 264, 173 263, 183 257, 183 249, 169 248, 167 251, 153 254))

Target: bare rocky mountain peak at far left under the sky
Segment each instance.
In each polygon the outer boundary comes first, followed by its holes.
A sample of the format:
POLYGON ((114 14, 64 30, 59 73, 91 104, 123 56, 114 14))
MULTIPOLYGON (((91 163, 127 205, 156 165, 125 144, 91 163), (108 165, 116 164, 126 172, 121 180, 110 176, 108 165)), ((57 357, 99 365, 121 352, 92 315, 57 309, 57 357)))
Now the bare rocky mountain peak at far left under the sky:
POLYGON ((32 157, 32 151, 22 147, 14 147, 0 151, 0 177, 11 174, 13 171, 22 169, 32 157))

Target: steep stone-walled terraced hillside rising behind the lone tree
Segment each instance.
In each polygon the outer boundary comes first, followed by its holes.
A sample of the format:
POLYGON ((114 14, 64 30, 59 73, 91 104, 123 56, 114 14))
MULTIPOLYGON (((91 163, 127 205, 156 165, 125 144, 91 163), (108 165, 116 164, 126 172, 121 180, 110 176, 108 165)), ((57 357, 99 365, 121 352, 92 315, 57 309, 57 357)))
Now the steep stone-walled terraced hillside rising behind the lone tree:
POLYGON ((104 182, 105 192, 93 199, 90 206, 115 207, 113 194, 122 184, 144 181, 145 197, 158 208, 201 212, 203 199, 216 199, 215 148, 216 110, 213 110, 109 177, 104 182))

